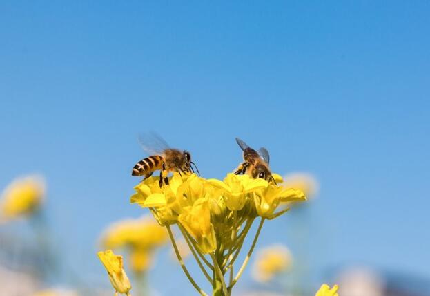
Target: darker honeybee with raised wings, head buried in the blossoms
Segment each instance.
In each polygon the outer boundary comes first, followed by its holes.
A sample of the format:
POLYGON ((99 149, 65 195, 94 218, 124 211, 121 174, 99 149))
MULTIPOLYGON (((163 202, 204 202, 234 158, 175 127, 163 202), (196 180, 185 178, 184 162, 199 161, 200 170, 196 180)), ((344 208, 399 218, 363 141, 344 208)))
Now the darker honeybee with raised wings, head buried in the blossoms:
POLYGON ((268 168, 269 156, 266 148, 262 147, 255 151, 240 138, 236 138, 237 144, 244 151, 244 162, 237 167, 235 174, 247 174, 251 178, 262 178, 268 182, 275 182, 271 170, 268 168))

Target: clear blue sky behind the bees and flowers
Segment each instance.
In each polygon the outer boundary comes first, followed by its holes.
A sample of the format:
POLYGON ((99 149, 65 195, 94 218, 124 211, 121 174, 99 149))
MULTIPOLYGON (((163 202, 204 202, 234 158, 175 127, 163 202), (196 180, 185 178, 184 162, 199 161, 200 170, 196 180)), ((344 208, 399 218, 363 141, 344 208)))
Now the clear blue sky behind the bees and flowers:
MULTIPOLYGON (((429 277, 429 14, 428 1, 1 1, 0 186, 44 174, 69 263, 106 284, 97 237, 144 212, 129 203, 137 135, 217 178, 240 136, 273 171, 320 181, 315 270, 429 277)), ((289 243, 291 224, 268 223, 261 246, 289 243)), ((190 293, 162 262, 153 286, 190 293)))

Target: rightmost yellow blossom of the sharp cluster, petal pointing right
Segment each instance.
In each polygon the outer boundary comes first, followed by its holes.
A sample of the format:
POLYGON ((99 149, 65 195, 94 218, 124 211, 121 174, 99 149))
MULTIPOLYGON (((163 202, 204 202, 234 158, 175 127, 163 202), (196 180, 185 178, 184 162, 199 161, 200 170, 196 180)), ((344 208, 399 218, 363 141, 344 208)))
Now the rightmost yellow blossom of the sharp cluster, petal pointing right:
POLYGON ((255 209, 259 216, 272 219, 281 202, 304 201, 306 196, 300 189, 286 188, 273 184, 255 192, 255 209))

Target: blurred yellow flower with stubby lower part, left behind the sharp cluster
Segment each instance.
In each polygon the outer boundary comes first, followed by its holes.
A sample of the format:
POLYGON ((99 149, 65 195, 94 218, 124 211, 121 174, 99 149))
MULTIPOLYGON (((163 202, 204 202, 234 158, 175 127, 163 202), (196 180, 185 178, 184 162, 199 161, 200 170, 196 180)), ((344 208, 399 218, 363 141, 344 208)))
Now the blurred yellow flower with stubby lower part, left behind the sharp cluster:
POLYGON ((130 268, 143 272, 150 268, 154 252, 168 240, 162 228, 150 216, 126 219, 110 225, 101 236, 104 248, 126 248, 130 252, 130 268))

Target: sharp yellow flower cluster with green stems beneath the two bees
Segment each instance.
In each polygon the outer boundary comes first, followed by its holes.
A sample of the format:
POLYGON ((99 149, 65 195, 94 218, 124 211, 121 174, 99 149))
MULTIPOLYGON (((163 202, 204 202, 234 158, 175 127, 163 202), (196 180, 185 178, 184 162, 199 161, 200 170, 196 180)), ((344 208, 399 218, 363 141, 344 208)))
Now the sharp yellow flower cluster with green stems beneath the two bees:
MULTIPOLYGON (((282 178, 275 175, 275 180, 282 181, 282 178)), ((306 199, 300 189, 277 186, 248 175, 228 174, 220 181, 175 173, 168 184, 160 187, 159 178, 147 178, 135 187, 131 202, 149 208, 158 223, 166 226, 175 249, 170 227, 179 227, 204 275, 213 285, 215 295, 216 291, 219 295, 231 294, 231 288, 248 263, 263 222, 289 210, 284 206, 286 202, 306 199), (233 274, 233 263, 253 221, 259 217, 260 225, 248 256, 236 277, 231 276, 227 285, 224 275, 228 270, 233 274), (205 255, 211 257, 212 263, 205 255), (215 276, 210 276, 211 272, 215 276)), ((177 255, 188 279, 199 293, 205 295, 190 277, 179 252, 177 255)))

